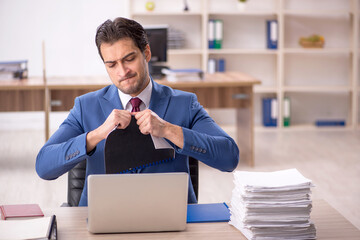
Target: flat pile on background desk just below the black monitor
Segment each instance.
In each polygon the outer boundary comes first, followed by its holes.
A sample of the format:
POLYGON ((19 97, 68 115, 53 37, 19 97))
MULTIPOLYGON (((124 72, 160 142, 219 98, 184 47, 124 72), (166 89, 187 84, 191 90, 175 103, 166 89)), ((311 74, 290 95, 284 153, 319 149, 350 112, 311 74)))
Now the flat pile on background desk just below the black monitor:
POLYGON ((176 81, 198 81, 204 77, 204 72, 197 68, 186 69, 166 69, 163 68, 161 72, 166 76, 166 80, 170 82, 176 81))

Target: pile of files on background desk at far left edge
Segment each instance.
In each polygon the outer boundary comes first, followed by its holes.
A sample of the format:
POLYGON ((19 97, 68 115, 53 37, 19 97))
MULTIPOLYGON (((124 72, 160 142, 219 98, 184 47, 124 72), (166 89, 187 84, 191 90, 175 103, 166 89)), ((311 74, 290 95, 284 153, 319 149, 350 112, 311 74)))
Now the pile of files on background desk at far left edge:
POLYGON ((27 60, 0 62, 0 80, 28 77, 27 60))

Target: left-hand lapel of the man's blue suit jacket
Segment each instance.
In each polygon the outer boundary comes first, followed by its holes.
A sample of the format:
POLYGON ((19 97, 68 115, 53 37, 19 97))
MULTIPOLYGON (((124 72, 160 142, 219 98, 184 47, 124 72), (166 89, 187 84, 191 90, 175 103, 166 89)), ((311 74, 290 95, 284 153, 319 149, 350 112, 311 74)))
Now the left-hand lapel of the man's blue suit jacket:
POLYGON ((118 89, 115 85, 110 85, 106 93, 99 98, 101 109, 107 118, 113 109, 123 109, 118 94, 118 89))

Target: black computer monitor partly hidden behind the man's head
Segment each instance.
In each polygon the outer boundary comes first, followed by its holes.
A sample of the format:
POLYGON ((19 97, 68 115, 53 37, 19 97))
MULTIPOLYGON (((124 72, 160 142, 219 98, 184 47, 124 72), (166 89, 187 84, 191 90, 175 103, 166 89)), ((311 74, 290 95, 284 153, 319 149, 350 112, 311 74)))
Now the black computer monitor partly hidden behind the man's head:
POLYGON ((161 78, 161 69, 167 68, 167 25, 144 26, 151 49, 149 72, 153 78, 161 78))

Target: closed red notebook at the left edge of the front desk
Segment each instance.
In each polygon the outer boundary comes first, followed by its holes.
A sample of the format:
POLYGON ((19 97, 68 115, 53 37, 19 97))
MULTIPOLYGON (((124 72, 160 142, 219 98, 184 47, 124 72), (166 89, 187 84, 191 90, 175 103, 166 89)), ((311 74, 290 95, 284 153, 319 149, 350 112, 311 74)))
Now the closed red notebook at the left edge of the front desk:
POLYGON ((38 204, 2 205, 0 211, 2 220, 30 219, 44 216, 38 204))

